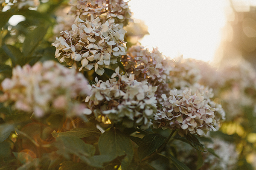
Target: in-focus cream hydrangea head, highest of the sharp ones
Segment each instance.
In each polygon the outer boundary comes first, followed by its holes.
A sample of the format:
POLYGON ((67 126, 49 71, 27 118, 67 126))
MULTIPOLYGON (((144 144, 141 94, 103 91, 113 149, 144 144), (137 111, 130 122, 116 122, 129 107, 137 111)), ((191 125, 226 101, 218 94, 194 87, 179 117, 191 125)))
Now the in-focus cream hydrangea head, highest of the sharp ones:
POLYGON ((89 71, 93 67, 99 75, 105 65, 117 63, 126 54, 125 30, 118 28, 113 19, 101 24, 99 17, 89 21, 80 20, 72 25, 72 31, 62 31, 52 43, 56 47, 55 58, 67 65, 79 67, 79 71, 89 71))

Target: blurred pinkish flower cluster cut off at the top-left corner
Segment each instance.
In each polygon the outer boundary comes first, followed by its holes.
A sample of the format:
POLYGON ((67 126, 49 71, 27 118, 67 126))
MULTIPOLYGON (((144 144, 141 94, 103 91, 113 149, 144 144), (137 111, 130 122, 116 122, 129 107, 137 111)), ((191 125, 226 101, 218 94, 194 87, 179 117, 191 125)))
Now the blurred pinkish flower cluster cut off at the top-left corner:
POLYGON ((0 3, 1 3, 1 10, 3 10, 3 8, 6 8, 6 10, 8 10, 12 7, 18 8, 18 9, 21 9, 23 7, 36 8, 40 5, 40 0, 9 0, 8 3, 6 3, 6 0, 0 0, 0 3))

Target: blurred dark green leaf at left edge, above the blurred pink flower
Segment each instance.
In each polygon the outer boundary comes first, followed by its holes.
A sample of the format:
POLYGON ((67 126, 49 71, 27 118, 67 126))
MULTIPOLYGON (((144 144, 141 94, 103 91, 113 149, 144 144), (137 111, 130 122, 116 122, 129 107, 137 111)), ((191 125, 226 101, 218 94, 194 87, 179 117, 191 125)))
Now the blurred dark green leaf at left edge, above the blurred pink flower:
POLYGON ((12 45, 3 45, 3 51, 6 53, 6 55, 12 59, 12 64, 16 65, 18 64, 17 61, 19 58, 23 58, 23 54, 20 52, 20 50, 12 45))

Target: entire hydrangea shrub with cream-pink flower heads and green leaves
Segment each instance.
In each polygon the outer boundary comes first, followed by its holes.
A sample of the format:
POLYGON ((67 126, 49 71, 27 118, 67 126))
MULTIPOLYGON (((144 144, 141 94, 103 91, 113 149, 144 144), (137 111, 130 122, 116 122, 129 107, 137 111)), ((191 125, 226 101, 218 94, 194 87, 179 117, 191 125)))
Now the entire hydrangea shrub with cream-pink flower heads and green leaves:
POLYGON ((149 51, 124 0, 0 3, 0 169, 253 168, 247 62, 149 51))

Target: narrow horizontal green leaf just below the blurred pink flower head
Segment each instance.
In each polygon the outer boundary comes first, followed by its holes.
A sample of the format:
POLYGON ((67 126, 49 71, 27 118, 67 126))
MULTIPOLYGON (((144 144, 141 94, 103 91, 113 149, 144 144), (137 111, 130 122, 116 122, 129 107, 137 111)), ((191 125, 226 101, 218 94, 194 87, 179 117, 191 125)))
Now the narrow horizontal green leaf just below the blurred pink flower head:
POLYGON ((52 136, 55 138, 58 136, 76 136, 78 138, 85 138, 94 135, 101 135, 101 131, 99 129, 74 128, 67 132, 52 132, 52 136))

